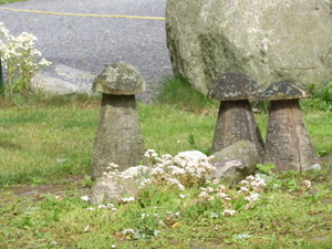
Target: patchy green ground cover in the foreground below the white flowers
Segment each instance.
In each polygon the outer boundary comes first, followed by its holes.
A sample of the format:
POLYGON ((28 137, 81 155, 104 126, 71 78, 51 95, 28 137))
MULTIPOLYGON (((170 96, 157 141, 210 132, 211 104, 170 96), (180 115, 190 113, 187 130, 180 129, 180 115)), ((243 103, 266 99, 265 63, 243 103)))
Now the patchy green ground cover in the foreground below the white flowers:
MULTIPOLYGON (((62 194, 61 200, 45 194, 34 201, 23 196, 1 206, 0 247, 329 248, 332 186, 322 188, 320 180, 329 180, 331 168, 295 177, 295 186, 287 176, 279 177, 283 191, 270 189, 253 209, 239 209, 232 217, 221 216, 214 201, 198 201, 198 189, 188 189, 190 197, 180 199, 176 189, 149 188, 137 201, 115 205, 117 210, 110 211, 81 200, 76 188, 82 186, 71 184, 71 191, 62 194), (300 187, 301 179, 314 183, 313 194, 300 187), (124 235, 125 229, 136 234, 124 235)), ((8 190, 7 195, 12 194, 8 190)))

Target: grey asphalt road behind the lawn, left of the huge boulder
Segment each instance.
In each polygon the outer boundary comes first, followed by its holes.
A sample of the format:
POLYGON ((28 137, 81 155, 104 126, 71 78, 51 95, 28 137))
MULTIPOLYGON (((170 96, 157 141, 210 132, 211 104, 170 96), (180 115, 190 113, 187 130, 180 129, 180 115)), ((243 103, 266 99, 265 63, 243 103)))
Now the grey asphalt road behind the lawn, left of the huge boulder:
MULTIPOLYGON (((166 0, 29 0, 0 8, 62 13, 165 17, 166 0)), ((172 74, 165 21, 68 17, 0 9, 11 34, 38 38, 35 48, 53 64, 98 73, 110 62, 127 62, 148 84, 172 74)))

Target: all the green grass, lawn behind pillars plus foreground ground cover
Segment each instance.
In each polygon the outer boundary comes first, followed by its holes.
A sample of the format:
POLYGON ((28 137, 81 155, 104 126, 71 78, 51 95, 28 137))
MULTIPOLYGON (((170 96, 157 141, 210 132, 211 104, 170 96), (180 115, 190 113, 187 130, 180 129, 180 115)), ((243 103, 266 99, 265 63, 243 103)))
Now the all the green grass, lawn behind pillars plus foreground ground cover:
MULTIPOLYGON (((0 100, 0 248, 331 247, 331 160, 321 172, 273 175, 255 208, 245 210, 235 199, 238 212, 231 217, 221 215, 218 201, 201 201, 198 188, 187 189, 186 199, 174 188, 148 188, 136 201, 115 205, 116 211, 81 200, 92 183, 71 177, 90 173, 100 101, 81 95, 0 100), (303 188, 303 179, 311 189, 303 188), (143 214, 148 216, 142 219, 143 214), (129 228, 135 235, 122 234, 129 228)), ((208 153, 218 105, 183 81, 167 80, 157 103, 138 104, 146 148, 208 153)), ((268 114, 256 117, 264 136, 268 114)), ((311 108, 304 118, 315 149, 331 157, 332 113, 311 108)))

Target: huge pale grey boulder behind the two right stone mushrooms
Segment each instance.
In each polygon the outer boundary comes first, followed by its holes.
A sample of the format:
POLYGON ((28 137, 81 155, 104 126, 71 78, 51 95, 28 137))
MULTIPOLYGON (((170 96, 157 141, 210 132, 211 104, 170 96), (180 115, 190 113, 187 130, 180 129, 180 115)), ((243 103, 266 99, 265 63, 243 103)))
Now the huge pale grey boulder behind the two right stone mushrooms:
POLYGON ((203 93, 228 71, 267 87, 332 80, 331 0, 167 0, 167 45, 175 74, 203 93))

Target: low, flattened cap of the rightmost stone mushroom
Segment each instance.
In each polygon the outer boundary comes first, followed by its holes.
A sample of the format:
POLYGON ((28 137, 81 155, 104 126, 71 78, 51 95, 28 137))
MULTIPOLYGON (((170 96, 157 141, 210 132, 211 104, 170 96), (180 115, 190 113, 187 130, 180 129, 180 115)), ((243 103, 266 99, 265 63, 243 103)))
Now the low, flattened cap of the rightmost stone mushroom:
POLYGON ((297 100, 303 97, 310 97, 310 93, 291 81, 274 82, 259 96, 261 101, 297 100))

